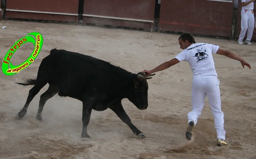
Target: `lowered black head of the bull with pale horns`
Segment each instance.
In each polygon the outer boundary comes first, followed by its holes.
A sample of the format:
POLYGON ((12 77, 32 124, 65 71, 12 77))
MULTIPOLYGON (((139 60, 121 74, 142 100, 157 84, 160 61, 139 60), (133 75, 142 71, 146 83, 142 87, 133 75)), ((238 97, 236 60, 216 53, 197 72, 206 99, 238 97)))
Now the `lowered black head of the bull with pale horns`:
MULTIPOLYGON (((150 75, 153 76, 154 74, 150 75)), ((152 77, 146 77, 145 73, 140 72, 133 78, 133 87, 131 89, 129 101, 132 102, 138 109, 147 109, 148 107, 148 83, 147 79, 152 77)))

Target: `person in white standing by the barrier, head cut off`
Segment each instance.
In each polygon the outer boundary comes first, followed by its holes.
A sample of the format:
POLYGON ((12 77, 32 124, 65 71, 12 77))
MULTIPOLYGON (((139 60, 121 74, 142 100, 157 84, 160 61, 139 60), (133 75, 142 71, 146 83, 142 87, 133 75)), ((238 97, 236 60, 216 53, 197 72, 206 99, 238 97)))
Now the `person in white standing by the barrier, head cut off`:
POLYGON ((247 38, 245 44, 251 45, 251 37, 254 29, 254 3, 255 0, 241 0, 241 32, 238 39, 238 44, 243 45, 243 39, 247 31, 247 38))

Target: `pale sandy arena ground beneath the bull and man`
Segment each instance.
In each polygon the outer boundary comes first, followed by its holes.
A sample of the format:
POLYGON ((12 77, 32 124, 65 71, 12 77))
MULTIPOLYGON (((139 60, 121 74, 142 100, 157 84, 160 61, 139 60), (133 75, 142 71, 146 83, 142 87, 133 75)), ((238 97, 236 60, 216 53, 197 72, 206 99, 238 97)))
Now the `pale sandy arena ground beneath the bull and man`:
MULTIPOLYGON (((0 28, 1 60, 14 42, 27 33, 40 32, 44 45, 27 69, 14 76, 0 73, 0 158, 256 158, 256 43, 241 46, 225 38, 195 36, 196 42, 220 45, 239 54, 252 67, 243 69, 238 61, 214 55, 228 146, 216 146, 207 100, 193 140, 186 140, 192 79, 186 62, 148 80, 148 109, 141 111, 123 100, 132 123, 147 138, 135 136, 110 109, 92 111, 88 126, 91 138, 81 138, 80 101, 55 95, 46 103, 43 122, 39 122, 35 115, 46 86, 35 96, 24 118, 17 120, 15 115, 23 108, 32 86, 15 83, 35 78, 42 59, 53 48, 91 55, 134 73, 152 69, 181 51, 180 34, 22 21, 0 21, 2 26, 7 28, 0 28)), ((28 58, 31 45, 26 44, 15 53, 14 65, 28 58)))

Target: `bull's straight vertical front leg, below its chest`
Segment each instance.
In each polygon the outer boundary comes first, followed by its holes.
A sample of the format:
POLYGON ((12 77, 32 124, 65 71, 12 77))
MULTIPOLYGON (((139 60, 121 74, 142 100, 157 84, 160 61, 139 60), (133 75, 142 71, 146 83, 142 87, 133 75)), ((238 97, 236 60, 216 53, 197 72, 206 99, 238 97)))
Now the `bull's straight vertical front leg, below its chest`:
POLYGON ((87 126, 90 122, 90 117, 91 117, 91 111, 92 108, 86 104, 86 102, 83 102, 83 130, 82 130, 82 137, 90 137, 87 133, 87 126))

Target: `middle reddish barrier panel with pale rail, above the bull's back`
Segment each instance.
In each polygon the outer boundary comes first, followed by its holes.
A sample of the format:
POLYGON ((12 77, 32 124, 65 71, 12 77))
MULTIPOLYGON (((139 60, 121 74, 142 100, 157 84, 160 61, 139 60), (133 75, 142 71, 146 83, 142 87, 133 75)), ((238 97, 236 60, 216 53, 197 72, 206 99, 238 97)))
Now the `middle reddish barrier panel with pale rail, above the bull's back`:
POLYGON ((155 0, 93 0, 84 2, 84 24, 150 29, 155 0))

